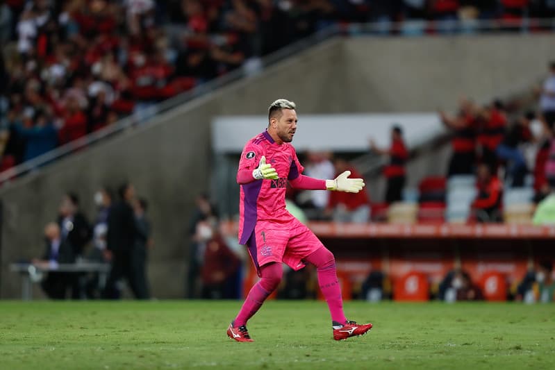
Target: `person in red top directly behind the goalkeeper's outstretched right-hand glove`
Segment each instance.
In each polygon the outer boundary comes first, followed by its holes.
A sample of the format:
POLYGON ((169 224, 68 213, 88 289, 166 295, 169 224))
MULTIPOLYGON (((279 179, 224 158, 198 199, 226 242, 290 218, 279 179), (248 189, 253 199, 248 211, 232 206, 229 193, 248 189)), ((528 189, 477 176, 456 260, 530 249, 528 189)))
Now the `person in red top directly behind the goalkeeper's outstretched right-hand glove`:
MULTIPOLYGON (((344 171, 351 171, 350 176, 353 178, 363 177, 346 160, 336 158, 333 162, 336 174, 331 178, 342 174, 344 171)), ((356 194, 331 192, 326 212, 331 214, 335 222, 366 223, 370 220, 370 205, 367 193, 365 190, 356 194)))

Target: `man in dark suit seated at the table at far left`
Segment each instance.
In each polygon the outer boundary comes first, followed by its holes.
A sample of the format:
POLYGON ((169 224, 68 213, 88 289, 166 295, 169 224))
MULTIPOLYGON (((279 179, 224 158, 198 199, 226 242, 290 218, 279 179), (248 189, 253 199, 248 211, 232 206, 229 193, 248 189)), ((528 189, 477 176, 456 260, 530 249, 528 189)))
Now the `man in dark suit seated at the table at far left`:
MULTIPOLYGON (((56 269, 58 264, 74 263, 75 256, 72 246, 60 237, 60 226, 51 222, 44 227, 45 249, 42 259, 33 260, 38 267, 56 269)), ((44 293, 52 299, 64 299, 68 288, 74 286, 75 274, 50 271, 42 280, 44 293)))

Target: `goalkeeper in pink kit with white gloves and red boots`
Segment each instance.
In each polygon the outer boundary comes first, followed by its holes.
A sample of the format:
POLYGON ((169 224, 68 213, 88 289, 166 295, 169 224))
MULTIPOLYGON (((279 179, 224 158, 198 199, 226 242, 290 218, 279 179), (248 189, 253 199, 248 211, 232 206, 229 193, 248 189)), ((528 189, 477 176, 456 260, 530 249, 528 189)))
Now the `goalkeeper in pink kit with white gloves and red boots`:
POLYGON ((371 323, 348 321, 343 313, 341 289, 333 254, 304 224, 285 210, 287 184, 306 190, 360 192, 362 178, 349 178, 345 171, 333 180, 302 174, 295 148, 290 144, 297 130, 295 103, 278 99, 268 110, 266 131, 247 142, 237 173, 240 184, 239 242, 245 244, 260 280, 251 288, 242 308, 227 330, 238 342, 252 342, 247 321, 278 287, 285 262, 294 270, 314 264, 318 283, 332 320, 333 339, 365 334, 371 323))

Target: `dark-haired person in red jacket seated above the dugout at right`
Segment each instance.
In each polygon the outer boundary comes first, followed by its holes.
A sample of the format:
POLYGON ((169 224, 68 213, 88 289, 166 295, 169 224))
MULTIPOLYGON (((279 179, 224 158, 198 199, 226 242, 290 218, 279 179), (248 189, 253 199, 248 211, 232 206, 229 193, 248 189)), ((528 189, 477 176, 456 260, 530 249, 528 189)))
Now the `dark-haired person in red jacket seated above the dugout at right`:
POLYGON ((500 206, 503 185, 485 163, 478 166, 476 187, 478 194, 472 202, 472 214, 478 222, 501 221, 500 206))

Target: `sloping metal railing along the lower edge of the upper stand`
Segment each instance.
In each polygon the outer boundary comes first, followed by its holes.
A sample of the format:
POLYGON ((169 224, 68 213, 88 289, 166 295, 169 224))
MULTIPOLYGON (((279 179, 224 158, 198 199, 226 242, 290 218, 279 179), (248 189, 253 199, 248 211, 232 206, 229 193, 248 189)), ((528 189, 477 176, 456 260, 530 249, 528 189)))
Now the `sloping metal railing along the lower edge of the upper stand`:
MULTIPOLYGON (((320 44, 324 40, 329 40, 331 37, 337 35, 348 35, 356 36, 359 34, 363 35, 426 35, 429 33, 452 33, 452 34, 465 34, 473 32, 506 32, 506 31, 553 31, 555 30, 555 18, 554 19, 528 19, 524 18, 521 20, 506 20, 506 19, 491 19, 491 20, 448 20, 448 21, 420 21, 420 20, 408 20, 406 22, 376 22, 370 24, 333 24, 328 28, 324 28, 322 31, 317 31, 313 35, 306 37, 303 40, 295 42, 279 51, 276 51, 269 56, 265 56, 261 60, 260 69, 252 71, 247 71, 247 69, 238 68, 235 69, 224 76, 215 78, 213 81, 204 83, 197 87, 194 87, 188 92, 183 92, 177 96, 174 96, 166 101, 158 103, 151 106, 147 112, 138 112, 137 115, 131 115, 125 117, 117 123, 103 128, 97 132, 90 133, 85 137, 81 137, 78 140, 69 142, 63 146, 59 146, 53 151, 44 153, 32 160, 28 160, 20 165, 7 169, 0 173, 0 185, 5 185, 9 183, 9 180, 23 176, 33 171, 40 171, 40 168, 48 165, 54 160, 63 158, 69 153, 73 153, 78 149, 82 149, 85 146, 92 146, 107 137, 112 137, 126 131, 128 128, 133 128, 138 124, 148 124, 152 121, 154 115, 158 115, 163 112, 167 112, 181 104, 188 103, 193 99, 203 96, 210 92, 217 90, 220 87, 229 85, 234 81, 238 81, 241 78, 245 78, 260 72, 260 70, 268 67, 270 65, 279 62, 294 53, 304 50, 308 47, 314 46, 315 44, 320 44), (145 114, 146 113, 146 114, 145 114), (141 117, 143 115, 143 117, 141 117)), ((365 162, 365 160, 361 160, 365 162)), ((370 160, 371 165, 368 165, 368 169, 365 172, 370 172, 375 170, 383 163, 375 162, 370 160)))

